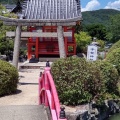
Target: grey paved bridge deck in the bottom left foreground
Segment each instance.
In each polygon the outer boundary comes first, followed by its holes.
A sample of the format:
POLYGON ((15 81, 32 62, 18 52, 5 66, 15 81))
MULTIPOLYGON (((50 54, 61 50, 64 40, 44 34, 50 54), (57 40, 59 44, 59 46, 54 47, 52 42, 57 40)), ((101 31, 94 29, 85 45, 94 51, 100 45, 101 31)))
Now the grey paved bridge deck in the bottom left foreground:
POLYGON ((0 120, 49 120, 43 105, 0 106, 0 120))

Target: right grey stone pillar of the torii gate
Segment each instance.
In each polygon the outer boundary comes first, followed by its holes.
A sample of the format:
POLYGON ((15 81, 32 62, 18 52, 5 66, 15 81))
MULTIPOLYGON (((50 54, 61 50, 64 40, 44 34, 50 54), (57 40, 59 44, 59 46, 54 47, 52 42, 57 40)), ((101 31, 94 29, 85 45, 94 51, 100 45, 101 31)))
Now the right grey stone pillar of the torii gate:
POLYGON ((58 46, 59 46, 60 58, 65 58, 66 52, 65 52, 65 44, 64 44, 64 36, 63 36, 62 26, 57 26, 57 34, 58 34, 58 46))

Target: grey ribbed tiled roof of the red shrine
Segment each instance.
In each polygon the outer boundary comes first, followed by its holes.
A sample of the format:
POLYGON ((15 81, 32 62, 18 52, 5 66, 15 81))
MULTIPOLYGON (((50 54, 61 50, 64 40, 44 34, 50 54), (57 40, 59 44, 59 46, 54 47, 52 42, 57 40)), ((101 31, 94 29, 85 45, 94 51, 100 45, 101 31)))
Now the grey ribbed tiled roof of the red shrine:
POLYGON ((25 19, 68 20, 81 18, 80 0, 25 0, 25 19))

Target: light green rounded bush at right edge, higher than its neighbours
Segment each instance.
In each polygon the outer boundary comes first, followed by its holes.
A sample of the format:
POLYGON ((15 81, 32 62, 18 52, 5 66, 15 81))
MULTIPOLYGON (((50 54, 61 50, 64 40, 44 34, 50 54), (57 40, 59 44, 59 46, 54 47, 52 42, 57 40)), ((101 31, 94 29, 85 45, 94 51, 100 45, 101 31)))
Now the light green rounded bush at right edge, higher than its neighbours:
POLYGON ((117 68, 120 75, 120 48, 114 49, 108 53, 106 56, 106 61, 113 64, 117 68))

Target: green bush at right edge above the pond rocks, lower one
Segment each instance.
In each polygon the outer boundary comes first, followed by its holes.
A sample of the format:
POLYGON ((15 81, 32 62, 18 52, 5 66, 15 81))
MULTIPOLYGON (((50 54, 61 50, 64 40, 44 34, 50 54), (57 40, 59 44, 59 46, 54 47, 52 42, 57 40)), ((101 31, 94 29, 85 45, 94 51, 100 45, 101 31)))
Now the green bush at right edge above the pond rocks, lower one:
POLYGON ((107 61, 97 61, 94 64, 100 67, 100 72, 103 76, 103 82, 105 84, 104 99, 114 99, 114 97, 119 96, 118 83, 120 79, 117 69, 107 61))

